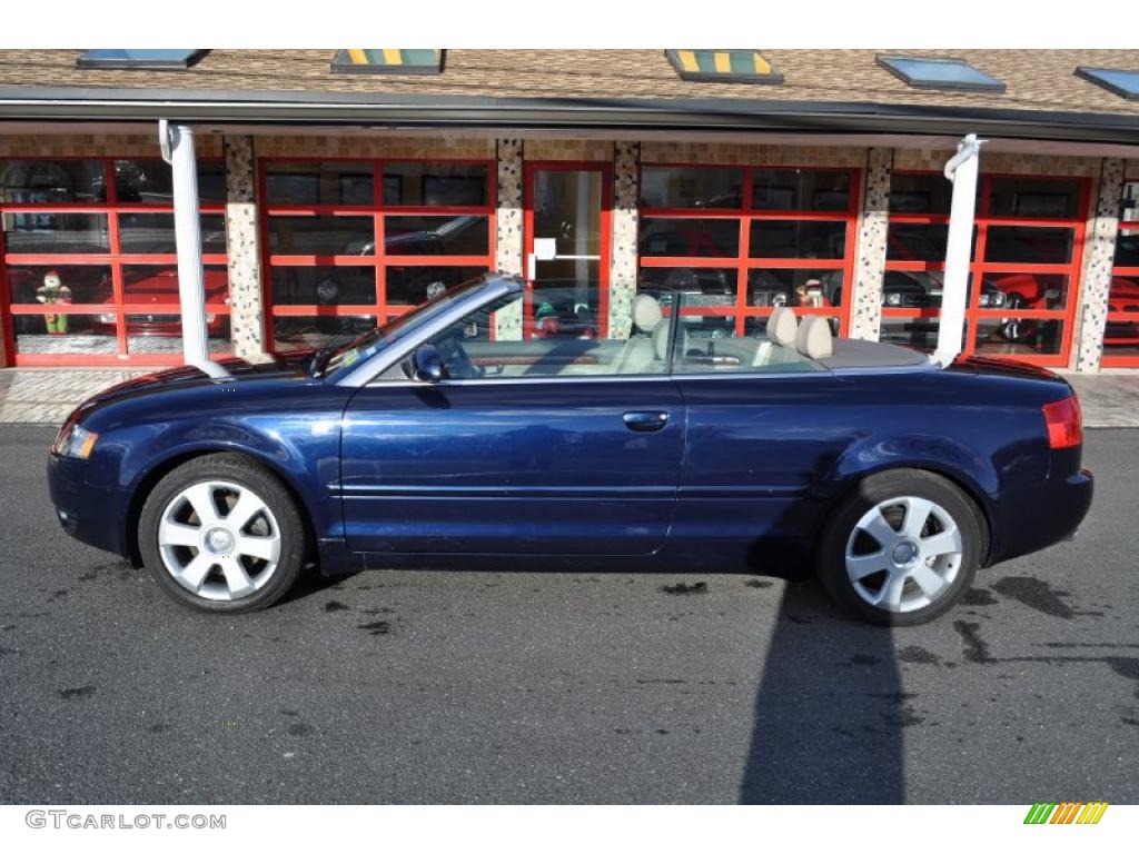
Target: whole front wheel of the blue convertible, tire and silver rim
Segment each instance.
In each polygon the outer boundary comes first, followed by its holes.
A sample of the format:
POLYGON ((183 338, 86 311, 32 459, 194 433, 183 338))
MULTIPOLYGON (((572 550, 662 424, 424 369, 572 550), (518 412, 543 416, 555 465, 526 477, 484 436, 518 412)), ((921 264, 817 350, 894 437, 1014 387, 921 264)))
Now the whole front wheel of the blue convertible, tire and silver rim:
POLYGON ((280 599, 304 564, 296 503, 263 467, 235 453, 199 457, 158 482, 139 517, 139 551, 182 605, 227 614, 280 599))

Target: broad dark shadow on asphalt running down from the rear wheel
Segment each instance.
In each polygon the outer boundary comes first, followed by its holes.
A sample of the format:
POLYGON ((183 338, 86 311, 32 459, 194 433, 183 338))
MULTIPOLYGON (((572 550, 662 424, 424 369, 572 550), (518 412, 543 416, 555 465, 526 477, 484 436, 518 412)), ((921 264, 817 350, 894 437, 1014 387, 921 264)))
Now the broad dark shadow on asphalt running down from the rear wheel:
POLYGON ((902 691, 893 632, 839 615, 813 581, 788 581, 755 717, 741 804, 900 804, 902 691))

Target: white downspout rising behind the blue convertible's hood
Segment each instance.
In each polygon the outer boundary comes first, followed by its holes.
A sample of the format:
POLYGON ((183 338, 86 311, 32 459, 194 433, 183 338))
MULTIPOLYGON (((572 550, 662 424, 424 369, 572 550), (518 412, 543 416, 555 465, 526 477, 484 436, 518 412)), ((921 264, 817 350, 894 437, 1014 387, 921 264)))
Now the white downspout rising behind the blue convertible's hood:
POLYGON ((173 167, 174 245, 178 249, 178 296, 182 309, 182 358, 187 364, 211 377, 229 377, 229 371, 210 361, 194 129, 185 124, 171 125, 163 118, 158 122, 158 145, 162 158, 173 167))

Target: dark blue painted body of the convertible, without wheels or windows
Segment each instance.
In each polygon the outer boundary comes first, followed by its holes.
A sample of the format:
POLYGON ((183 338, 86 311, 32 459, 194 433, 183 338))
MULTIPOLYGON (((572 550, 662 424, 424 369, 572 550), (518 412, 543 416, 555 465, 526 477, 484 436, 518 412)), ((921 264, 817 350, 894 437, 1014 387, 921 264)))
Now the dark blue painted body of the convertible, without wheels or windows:
POLYGON ((361 388, 345 384, 359 366, 312 378, 303 354, 226 364, 232 380, 180 368, 76 410, 95 453, 48 467, 73 535, 131 555, 146 490, 215 451, 295 492, 328 574, 523 555, 542 557, 508 566, 785 572, 810 559, 837 499, 892 468, 965 487, 990 561, 1067 537, 1091 501, 1079 449, 1050 451, 1040 411, 1071 388, 1003 362, 361 388))

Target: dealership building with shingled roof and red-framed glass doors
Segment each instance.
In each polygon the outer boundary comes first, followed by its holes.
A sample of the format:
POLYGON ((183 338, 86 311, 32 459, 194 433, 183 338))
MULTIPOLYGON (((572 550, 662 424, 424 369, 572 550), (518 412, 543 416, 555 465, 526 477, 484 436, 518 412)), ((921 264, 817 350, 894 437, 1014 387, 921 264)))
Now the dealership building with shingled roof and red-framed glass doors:
POLYGON ((2 50, 0 367, 182 361, 159 126, 216 355, 486 270, 526 311, 597 286, 611 335, 664 286, 737 335, 789 304, 932 348, 976 134, 964 352, 1139 368, 1139 50, 2 50))

